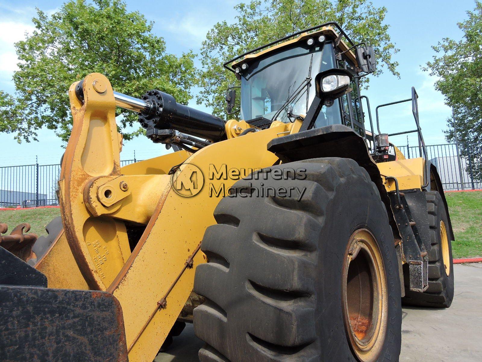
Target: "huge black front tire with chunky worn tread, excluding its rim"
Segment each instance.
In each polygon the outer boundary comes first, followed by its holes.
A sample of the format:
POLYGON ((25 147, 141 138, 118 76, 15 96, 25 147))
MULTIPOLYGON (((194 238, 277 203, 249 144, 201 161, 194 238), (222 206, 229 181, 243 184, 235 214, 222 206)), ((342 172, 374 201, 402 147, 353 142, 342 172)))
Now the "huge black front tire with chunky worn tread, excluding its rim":
POLYGON ((369 229, 383 251, 388 327, 376 361, 398 361, 401 293, 387 211, 356 162, 312 159, 270 167, 306 169, 304 180, 241 180, 249 187, 306 187, 295 197, 225 197, 214 211, 196 269, 194 331, 201 362, 356 361, 343 317, 342 265, 353 231, 369 229))

